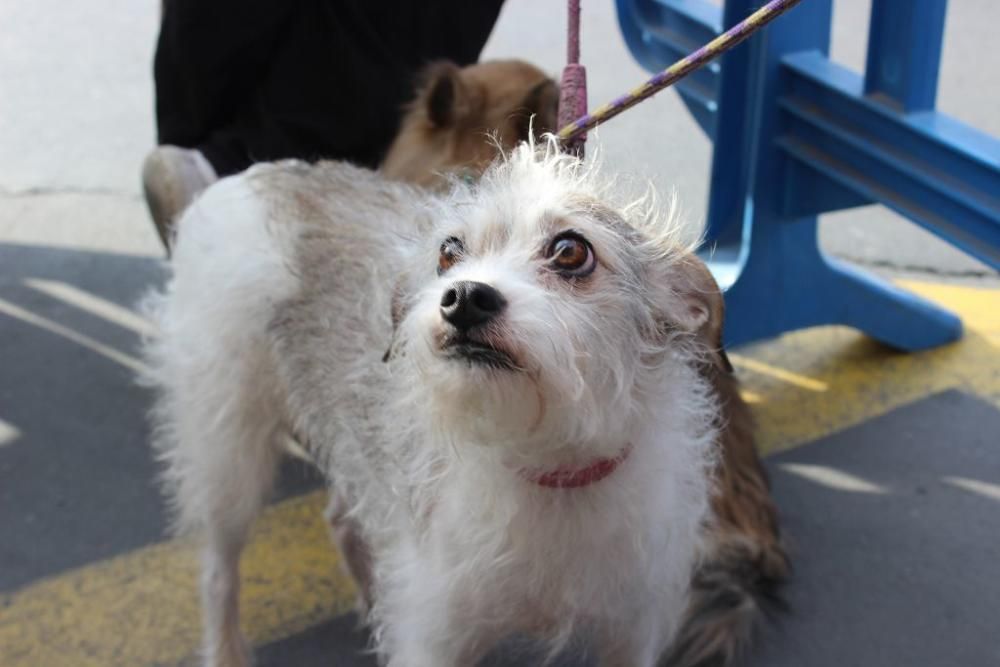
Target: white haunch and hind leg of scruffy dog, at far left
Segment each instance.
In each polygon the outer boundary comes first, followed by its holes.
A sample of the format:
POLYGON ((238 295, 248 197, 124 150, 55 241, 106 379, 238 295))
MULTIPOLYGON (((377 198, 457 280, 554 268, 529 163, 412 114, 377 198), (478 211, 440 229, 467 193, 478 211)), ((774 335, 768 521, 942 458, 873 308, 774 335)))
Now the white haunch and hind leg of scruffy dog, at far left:
POLYGON ((174 278, 150 313, 156 448, 181 532, 204 544, 204 664, 244 667, 239 558, 281 458, 284 394, 268 326, 295 288, 288 243, 244 178, 220 181, 179 223, 174 278))

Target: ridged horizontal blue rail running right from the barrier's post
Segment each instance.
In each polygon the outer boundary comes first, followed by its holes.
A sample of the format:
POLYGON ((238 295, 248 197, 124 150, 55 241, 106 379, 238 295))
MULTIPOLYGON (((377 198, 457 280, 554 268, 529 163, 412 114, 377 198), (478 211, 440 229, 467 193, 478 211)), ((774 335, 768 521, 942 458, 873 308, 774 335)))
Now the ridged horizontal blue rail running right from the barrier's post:
MULTIPOLYGON (((815 170, 1000 268, 1000 141, 943 114, 901 114, 861 95, 861 79, 817 53, 784 59, 778 145, 815 170)), ((815 190, 786 190, 785 214, 815 190)), ((829 209, 828 209, 829 210, 829 209)))

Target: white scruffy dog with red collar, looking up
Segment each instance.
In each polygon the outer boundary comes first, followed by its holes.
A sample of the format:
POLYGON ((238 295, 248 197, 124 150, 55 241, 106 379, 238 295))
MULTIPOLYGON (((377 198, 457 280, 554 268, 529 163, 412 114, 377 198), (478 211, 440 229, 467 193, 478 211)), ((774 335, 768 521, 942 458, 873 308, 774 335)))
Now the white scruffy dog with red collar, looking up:
POLYGON ((238 560, 289 431, 385 664, 467 667, 512 634, 656 664, 709 516, 718 290, 647 208, 553 144, 448 195, 287 162, 195 203, 148 357, 206 665, 250 662, 238 560))

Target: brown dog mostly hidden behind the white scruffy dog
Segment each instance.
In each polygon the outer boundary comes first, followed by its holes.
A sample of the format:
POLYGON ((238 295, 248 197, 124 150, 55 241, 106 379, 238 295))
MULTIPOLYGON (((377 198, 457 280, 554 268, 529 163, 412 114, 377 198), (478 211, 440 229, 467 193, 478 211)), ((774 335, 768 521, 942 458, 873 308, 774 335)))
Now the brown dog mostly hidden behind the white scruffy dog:
MULTIPOLYGON (((434 186, 456 171, 476 177, 498 148, 509 151, 529 138, 532 115, 534 136, 558 129, 557 102, 555 83, 527 63, 498 61, 462 70, 447 63, 432 66, 382 170, 391 178, 434 186), (483 141, 490 132, 497 141, 483 141)), ((667 663, 678 666, 735 659, 762 612, 782 608, 778 591, 789 575, 750 408, 722 347, 722 293, 704 264, 693 262, 692 270, 702 273, 713 311, 699 335, 716 352, 702 370, 722 413, 711 545, 695 574, 688 620, 667 663)), ((343 516, 336 502, 331 516, 343 516)), ((346 521, 341 525, 338 542, 348 552, 362 549, 349 527, 346 521)), ((365 568, 355 570, 364 582, 365 568)))

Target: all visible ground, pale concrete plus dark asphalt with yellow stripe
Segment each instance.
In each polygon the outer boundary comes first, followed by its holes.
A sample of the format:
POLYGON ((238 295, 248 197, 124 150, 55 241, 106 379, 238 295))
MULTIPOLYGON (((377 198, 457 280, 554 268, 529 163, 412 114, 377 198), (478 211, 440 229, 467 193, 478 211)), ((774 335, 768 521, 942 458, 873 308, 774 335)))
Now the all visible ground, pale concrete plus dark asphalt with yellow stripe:
MULTIPOLYGON (((868 5, 836 3, 849 65, 868 5)), ((135 306, 165 276, 138 192, 157 7, 0 0, 2 667, 189 664, 198 642, 194 554, 168 536, 134 379, 135 306)), ((510 0, 487 57, 558 70, 562 10, 510 0)), ((941 107, 1000 134, 1000 3, 949 11, 941 107)), ((584 2, 592 103, 645 76, 614 21, 584 2)), ((591 143, 607 168, 676 188, 699 220, 708 143, 676 98, 615 123, 591 143)), ((1000 664, 1000 281, 877 208, 828 216, 821 237, 967 334, 914 355, 835 327, 733 351, 796 563, 791 610, 747 664, 1000 664)), ((373 664, 318 488, 286 465, 244 563, 262 665, 373 664)), ((516 648, 497 664, 531 664, 516 648)))

